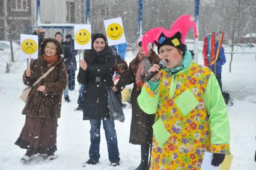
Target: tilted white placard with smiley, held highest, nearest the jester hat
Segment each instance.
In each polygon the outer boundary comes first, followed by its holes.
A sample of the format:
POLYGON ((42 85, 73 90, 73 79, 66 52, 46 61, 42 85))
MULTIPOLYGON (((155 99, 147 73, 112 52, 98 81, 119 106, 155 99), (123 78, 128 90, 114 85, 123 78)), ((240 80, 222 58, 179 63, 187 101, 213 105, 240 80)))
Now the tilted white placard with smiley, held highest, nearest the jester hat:
POLYGON ((104 20, 104 25, 109 46, 126 43, 121 17, 104 20))

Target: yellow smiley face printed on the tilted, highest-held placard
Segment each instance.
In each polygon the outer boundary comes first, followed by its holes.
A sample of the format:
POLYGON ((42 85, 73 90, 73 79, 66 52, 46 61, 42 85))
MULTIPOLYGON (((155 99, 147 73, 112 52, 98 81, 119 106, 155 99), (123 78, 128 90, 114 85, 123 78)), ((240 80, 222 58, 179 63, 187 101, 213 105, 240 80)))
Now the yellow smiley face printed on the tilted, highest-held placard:
POLYGON ((108 26, 106 33, 111 40, 118 40, 122 37, 124 29, 119 23, 111 23, 108 26))

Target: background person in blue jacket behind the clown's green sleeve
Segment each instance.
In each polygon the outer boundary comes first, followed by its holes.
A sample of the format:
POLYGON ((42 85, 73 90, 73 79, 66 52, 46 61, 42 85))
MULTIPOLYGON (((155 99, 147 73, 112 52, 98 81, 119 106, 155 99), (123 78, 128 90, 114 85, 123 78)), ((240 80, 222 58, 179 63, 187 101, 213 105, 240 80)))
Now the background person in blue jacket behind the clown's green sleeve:
MULTIPOLYGON (((216 41, 215 53, 217 52, 218 47, 219 47, 219 42, 216 41)), ((221 82, 222 65, 224 65, 225 62, 226 62, 226 57, 224 53, 224 48, 221 46, 216 63, 209 66, 209 68, 213 71, 213 73, 215 73, 216 79, 218 80, 218 83, 219 83, 219 87, 221 87, 221 92, 222 92, 222 82, 221 82)))

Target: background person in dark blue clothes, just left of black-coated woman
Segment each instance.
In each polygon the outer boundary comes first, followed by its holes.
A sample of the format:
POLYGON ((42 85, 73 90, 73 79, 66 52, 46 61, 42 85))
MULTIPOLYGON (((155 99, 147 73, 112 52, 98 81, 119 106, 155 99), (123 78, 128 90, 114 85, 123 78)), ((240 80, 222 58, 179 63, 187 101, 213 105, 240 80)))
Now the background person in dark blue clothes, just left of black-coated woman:
POLYGON ((78 54, 78 50, 75 50, 75 44, 74 40, 72 39, 72 35, 67 34, 66 35, 66 41, 64 42, 65 46, 69 46, 72 59, 70 59, 70 62, 67 65, 67 73, 69 75, 69 90, 73 91, 75 90, 75 74, 76 74, 76 55, 78 54))

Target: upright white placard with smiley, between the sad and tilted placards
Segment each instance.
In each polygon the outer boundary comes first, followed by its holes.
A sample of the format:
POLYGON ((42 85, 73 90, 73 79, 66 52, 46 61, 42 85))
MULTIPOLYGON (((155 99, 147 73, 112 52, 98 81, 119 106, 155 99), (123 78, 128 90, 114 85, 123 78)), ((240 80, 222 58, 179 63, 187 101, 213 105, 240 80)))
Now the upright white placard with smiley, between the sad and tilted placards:
POLYGON ((91 25, 74 25, 75 49, 91 49, 91 25))

